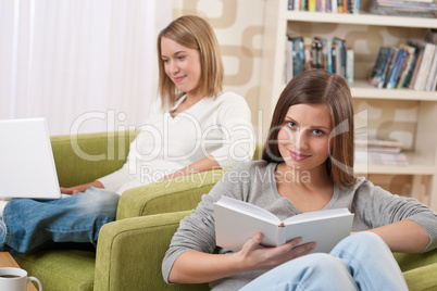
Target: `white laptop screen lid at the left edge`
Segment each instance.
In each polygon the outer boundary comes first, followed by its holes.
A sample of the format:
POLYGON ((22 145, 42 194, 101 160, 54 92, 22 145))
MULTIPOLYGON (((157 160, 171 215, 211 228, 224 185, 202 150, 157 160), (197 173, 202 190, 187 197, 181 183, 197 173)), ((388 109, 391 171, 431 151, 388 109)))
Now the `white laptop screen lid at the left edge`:
POLYGON ((45 118, 0 121, 0 198, 61 198, 45 118))

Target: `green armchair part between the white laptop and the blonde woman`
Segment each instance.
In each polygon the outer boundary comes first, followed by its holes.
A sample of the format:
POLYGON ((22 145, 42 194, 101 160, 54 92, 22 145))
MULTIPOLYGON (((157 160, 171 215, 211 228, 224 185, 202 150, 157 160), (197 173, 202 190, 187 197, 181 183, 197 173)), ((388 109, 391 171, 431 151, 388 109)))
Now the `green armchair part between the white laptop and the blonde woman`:
POLYGON ((135 131, 115 131, 51 137, 60 185, 90 182, 120 169, 135 136, 135 131))

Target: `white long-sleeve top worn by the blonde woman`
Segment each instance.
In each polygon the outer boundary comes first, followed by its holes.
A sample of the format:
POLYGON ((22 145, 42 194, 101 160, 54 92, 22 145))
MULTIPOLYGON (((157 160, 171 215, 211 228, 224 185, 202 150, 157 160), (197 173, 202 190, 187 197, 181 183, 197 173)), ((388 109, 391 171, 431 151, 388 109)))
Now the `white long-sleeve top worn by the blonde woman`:
POLYGON ((236 93, 202 98, 172 117, 157 100, 143 126, 130 143, 123 167, 98 179, 105 189, 125 190, 160 180, 212 155, 222 168, 249 161, 254 152, 251 114, 246 100, 236 93))

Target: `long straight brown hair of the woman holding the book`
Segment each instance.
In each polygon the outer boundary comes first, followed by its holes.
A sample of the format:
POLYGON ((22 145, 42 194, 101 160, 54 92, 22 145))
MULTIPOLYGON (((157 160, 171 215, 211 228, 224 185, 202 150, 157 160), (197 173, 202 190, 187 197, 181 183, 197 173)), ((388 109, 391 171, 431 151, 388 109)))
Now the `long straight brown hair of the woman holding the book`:
POLYGON ((288 109, 296 104, 327 106, 334 130, 329 135, 333 143, 326 160, 326 169, 334 184, 341 189, 349 188, 355 180, 352 96, 346 79, 327 71, 305 71, 288 83, 273 113, 262 159, 267 162, 284 162, 278 149, 277 135, 288 109))

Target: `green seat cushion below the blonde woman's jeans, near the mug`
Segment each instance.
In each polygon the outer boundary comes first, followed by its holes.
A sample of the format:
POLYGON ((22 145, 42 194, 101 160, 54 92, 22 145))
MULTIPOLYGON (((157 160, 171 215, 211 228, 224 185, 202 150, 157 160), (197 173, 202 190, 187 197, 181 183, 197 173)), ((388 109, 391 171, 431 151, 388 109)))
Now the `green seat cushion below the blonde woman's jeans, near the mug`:
POLYGON ((15 257, 20 267, 39 279, 45 291, 92 291, 96 253, 50 250, 15 257))

